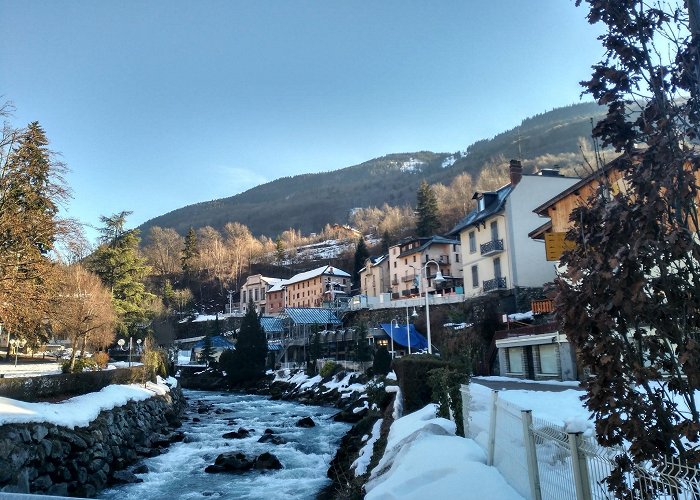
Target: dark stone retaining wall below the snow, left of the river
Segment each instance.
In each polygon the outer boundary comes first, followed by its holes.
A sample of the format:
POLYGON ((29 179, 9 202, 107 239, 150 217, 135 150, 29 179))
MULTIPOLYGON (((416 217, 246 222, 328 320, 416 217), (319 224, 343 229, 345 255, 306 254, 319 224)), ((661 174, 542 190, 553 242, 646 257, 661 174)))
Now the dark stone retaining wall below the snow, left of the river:
POLYGON ((0 491, 93 497, 135 461, 181 440, 179 387, 106 410, 87 427, 0 426, 0 491))

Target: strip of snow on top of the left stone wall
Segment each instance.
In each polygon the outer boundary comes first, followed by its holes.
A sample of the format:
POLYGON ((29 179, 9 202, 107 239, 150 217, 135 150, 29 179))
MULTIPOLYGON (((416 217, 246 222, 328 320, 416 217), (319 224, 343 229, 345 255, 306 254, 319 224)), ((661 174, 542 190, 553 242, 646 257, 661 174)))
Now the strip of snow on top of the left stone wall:
POLYGON ((99 392, 83 394, 59 403, 27 403, 0 397, 0 425, 46 422, 73 429, 86 427, 103 410, 123 406, 129 401, 144 401, 163 395, 175 387, 177 380, 158 377, 157 383, 109 385, 99 392))

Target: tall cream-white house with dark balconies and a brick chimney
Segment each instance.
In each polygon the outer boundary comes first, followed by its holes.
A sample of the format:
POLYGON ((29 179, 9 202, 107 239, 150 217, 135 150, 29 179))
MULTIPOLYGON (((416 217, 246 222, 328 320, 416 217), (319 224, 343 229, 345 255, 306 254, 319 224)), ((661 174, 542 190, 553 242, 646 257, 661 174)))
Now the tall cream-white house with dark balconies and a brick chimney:
POLYGON ((467 297, 540 287, 554 279, 554 266, 545 260, 542 243, 528 237, 542 224, 532 210, 578 180, 556 170, 523 175, 520 162, 511 160, 509 184, 474 194, 477 208, 448 233, 461 241, 467 297))

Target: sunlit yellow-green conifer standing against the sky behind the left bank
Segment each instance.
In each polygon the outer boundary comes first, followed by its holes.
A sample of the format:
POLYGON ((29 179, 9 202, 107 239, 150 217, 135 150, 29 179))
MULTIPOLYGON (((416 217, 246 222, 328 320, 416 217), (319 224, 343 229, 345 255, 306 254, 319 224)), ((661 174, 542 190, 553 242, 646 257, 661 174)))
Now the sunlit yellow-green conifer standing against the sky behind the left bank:
POLYGON ((103 240, 86 262, 86 267, 112 292, 119 318, 117 331, 122 336, 136 334, 150 319, 148 301, 153 298, 144 284, 149 268, 139 256, 139 232, 123 229, 123 219, 119 216, 125 213, 100 218, 106 226, 101 229, 102 234, 113 238, 103 240))

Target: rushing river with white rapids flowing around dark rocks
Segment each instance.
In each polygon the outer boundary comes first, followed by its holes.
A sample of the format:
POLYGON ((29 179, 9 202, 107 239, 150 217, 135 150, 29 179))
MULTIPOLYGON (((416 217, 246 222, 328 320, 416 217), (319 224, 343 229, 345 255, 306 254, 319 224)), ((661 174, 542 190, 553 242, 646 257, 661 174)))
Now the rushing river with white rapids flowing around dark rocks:
POLYGON ((328 465, 348 424, 334 422, 332 408, 271 401, 262 396, 185 391, 190 417, 180 430, 185 442, 174 443, 158 457, 144 460, 149 472, 139 474, 143 483, 104 490, 98 498, 113 500, 306 499, 314 498, 329 480, 328 465), (211 410, 197 413, 199 402, 211 410), (299 418, 310 416, 316 427, 296 427, 299 418), (193 422, 192 418, 200 419, 193 422), (234 420, 235 423, 232 423, 234 420), (254 429, 244 439, 222 435, 239 427, 254 429), (258 443, 265 429, 286 439, 286 444, 258 443), (283 469, 242 474, 204 472, 220 453, 241 451, 255 458, 270 452, 283 469))

